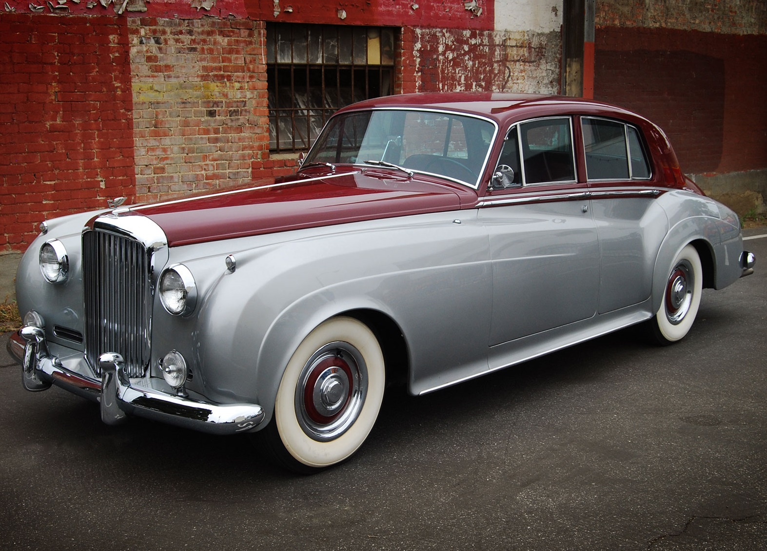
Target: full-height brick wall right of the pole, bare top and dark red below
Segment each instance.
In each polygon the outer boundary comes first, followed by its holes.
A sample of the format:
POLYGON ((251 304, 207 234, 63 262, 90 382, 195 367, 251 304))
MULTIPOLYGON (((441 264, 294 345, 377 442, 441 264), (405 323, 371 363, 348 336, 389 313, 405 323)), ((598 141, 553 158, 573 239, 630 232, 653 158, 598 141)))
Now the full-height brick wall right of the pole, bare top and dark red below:
POLYGON ((767 3, 604 0, 596 25, 594 96, 663 127, 710 196, 763 212, 767 3))

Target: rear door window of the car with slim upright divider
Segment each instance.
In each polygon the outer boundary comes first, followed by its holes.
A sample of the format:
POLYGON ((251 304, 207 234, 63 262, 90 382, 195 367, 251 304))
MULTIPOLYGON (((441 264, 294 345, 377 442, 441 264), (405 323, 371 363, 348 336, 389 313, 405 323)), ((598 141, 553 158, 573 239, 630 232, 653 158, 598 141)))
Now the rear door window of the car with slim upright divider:
POLYGON ((650 164, 639 130, 617 120, 583 117, 588 180, 646 180, 650 164))

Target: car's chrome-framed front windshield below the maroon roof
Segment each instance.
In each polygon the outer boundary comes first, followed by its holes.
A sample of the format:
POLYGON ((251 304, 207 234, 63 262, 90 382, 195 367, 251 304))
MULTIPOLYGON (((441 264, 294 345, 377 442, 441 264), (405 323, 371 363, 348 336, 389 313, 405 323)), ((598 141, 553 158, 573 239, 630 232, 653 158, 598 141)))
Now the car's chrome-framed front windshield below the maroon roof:
POLYGON ((328 121, 304 165, 391 163, 476 188, 494 136, 495 124, 469 115, 357 111, 328 121))

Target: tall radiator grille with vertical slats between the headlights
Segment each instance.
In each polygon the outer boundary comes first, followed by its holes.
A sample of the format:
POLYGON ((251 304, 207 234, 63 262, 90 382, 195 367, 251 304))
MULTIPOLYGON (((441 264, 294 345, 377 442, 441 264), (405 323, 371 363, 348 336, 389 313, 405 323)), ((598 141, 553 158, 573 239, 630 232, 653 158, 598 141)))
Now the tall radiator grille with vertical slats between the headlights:
POLYGON ((85 357, 98 375, 99 355, 117 352, 129 377, 150 361, 150 254, 137 241, 103 231, 83 233, 85 357))

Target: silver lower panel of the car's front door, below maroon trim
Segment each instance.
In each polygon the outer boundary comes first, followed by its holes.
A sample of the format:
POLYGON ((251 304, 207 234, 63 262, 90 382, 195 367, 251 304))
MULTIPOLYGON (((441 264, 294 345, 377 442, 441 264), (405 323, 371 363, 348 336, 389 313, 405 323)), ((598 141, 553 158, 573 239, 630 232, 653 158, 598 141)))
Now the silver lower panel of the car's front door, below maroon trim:
POLYGON ((498 345, 590 318, 599 295, 599 246, 588 200, 482 207, 493 270, 498 345))

